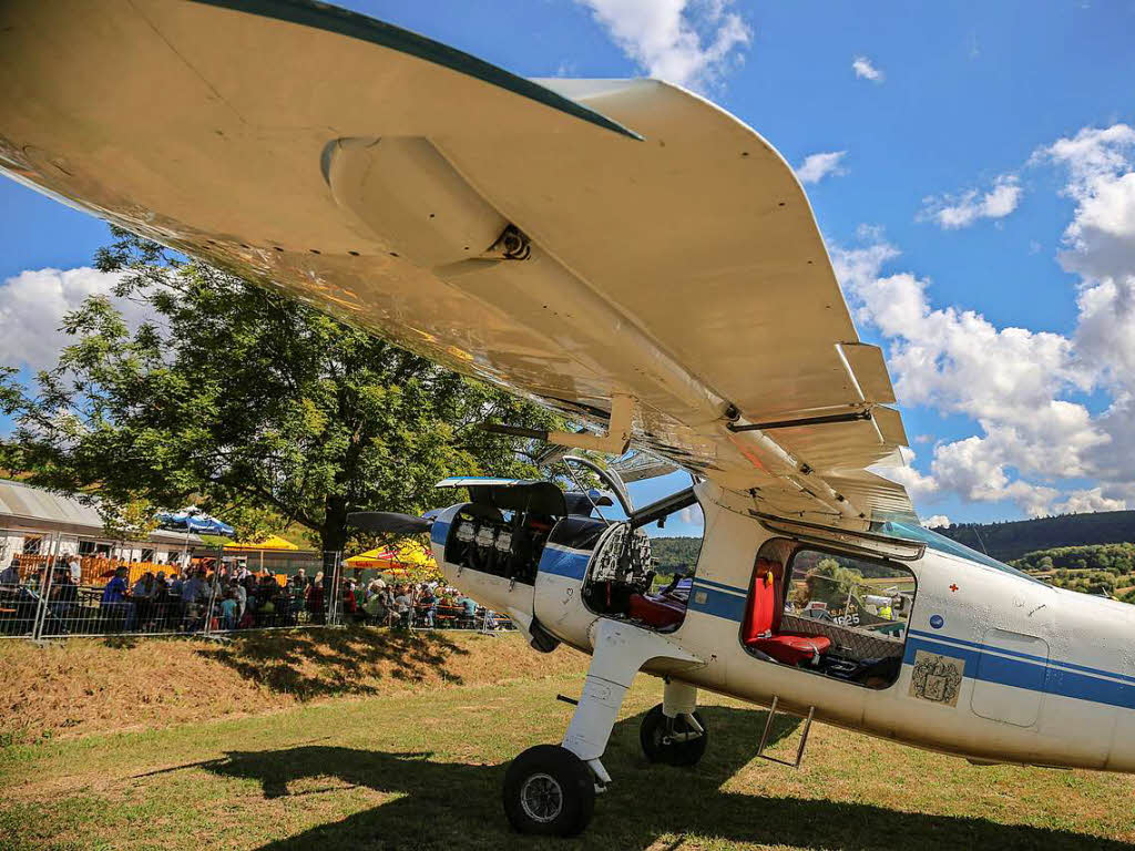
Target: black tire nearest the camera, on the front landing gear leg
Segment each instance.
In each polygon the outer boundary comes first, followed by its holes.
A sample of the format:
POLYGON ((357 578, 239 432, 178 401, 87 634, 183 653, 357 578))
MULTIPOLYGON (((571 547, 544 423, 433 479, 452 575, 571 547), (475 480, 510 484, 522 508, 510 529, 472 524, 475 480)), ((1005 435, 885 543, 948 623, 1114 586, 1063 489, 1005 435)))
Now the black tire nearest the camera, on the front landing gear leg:
POLYGON ((595 812, 591 769, 558 744, 529 748, 505 772, 504 812, 520 833, 574 836, 595 812))

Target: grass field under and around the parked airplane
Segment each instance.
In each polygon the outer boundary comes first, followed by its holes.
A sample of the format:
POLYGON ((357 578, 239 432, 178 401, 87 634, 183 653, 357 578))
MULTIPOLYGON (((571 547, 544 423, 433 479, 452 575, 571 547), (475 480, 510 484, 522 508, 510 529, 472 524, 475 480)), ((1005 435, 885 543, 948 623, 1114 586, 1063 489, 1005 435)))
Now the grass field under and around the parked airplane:
MULTIPOLYGON (((326 654, 322 664, 334 667, 318 633, 302 641, 305 652, 326 654)), ((564 650, 539 657, 515 637, 339 633, 327 641, 340 649, 344 641, 362 647, 421 641, 421 658, 440 655, 443 667, 463 666, 464 673, 459 684, 456 676, 375 676, 363 666, 354 688, 347 683, 345 690, 354 691, 347 697, 334 697, 329 686, 296 697, 269 677, 251 686, 278 699, 267 701, 268 711, 254 714, 241 701, 241 709, 230 711, 222 701, 212 706, 219 717, 188 721, 154 711, 152 701, 138 721, 123 702, 119 724, 131 726, 127 732, 60 723, 40 724, 30 735, 33 726, 24 724, 18 727, 24 738, 9 735, 12 743, 0 749, 0 849, 957 851, 1108 850, 1135 843, 1135 778, 975 767, 822 725, 813 730, 805 767, 793 772, 753 759, 763 711, 713 696, 705 696, 712 739, 701 765, 650 766, 639 752, 638 724, 661 689, 646 679, 632 690, 604 758, 615 784, 599 798, 590 831, 572 842, 530 842, 505 827, 504 765, 522 749, 562 734, 571 708, 555 696, 578 693, 580 658, 564 650), (508 675, 515 673, 508 671, 512 664, 519 677, 508 675), (365 682, 375 684, 360 691, 365 682)), ((229 672, 217 674, 216 688, 257 679, 192 642, 154 642, 142 651, 152 657, 163 647, 175 655, 185 648, 203 652, 197 658, 229 672)), ((111 675, 114 665, 103 654, 121 651, 73 642, 39 662, 57 672, 72 656, 100 660, 103 673, 85 674, 90 688, 111 675)), ((36 652, 42 651, 7 646, 0 663, 14 665, 36 652)), ((161 676, 160 667, 134 673, 161 676)), ((320 675, 308 669, 308 676, 320 675)), ((6 701, 0 708, 16 730, 9 692, 0 688, 6 701)), ((42 693, 35 705, 48 705, 42 693)), ((791 723, 779 726, 782 756, 798 733, 791 723)))

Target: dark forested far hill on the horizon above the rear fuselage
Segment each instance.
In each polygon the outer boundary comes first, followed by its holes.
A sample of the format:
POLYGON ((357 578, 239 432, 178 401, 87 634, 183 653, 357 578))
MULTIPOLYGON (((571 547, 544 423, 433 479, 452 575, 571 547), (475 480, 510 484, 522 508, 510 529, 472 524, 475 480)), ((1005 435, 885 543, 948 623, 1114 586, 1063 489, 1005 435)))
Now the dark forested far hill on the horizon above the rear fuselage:
POLYGON ((1135 511, 1061 514, 1006 523, 960 523, 934 531, 972 549, 984 549, 1002 562, 1011 562, 1041 549, 1135 542, 1135 511))

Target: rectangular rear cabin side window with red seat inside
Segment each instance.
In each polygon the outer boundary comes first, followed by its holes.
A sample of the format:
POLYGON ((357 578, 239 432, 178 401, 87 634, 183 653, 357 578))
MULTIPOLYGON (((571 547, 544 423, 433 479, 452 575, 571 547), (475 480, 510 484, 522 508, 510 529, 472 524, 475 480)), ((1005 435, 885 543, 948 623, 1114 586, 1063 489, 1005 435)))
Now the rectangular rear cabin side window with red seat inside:
POLYGON ((896 562, 766 541, 741 641, 750 655, 872 689, 899 676, 915 578, 896 562))

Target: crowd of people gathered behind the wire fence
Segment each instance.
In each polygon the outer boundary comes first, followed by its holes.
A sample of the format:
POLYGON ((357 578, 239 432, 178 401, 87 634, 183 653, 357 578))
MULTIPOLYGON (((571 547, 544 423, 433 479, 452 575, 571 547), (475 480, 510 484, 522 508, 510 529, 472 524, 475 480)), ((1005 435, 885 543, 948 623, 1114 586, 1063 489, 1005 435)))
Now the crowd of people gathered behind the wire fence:
POLYGON ((337 599, 323 572, 300 568, 286 581, 244 564, 203 559, 169 573, 148 571, 133 583, 126 565, 114 568, 101 588, 82 584, 77 556, 22 578, 18 559, 0 571, 0 623, 30 629, 40 603, 44 634, 75 632, 200 632, 327 623, 329 614, 345 623, 393 627, 489 627, 502 625, 491 612, 456 589, 438 582, 388 584, 354 578, 339 583, 337 599), (335 605, 329 605, 335 604, 335 605))

